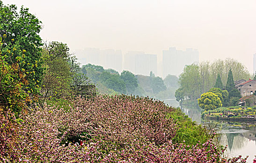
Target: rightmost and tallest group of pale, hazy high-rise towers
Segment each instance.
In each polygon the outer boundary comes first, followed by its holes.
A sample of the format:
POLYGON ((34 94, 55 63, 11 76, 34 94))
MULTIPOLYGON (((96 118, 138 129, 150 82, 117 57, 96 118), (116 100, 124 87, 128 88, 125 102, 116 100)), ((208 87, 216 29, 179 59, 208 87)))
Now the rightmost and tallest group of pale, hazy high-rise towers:
POLYGON ((187 48, 186 51, 176 50, 175 47, 163 50, 163 78, 168 74, 180 75, 185 65, 199 61, 199 53, 196 49, 187 48))

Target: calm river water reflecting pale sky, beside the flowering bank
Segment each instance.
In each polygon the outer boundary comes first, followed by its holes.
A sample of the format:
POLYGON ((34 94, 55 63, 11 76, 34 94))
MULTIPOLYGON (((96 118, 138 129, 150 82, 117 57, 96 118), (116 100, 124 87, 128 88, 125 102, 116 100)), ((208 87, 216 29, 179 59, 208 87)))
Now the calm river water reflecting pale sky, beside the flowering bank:
POLYGON ((253 162, 254 156, 256 155, 256 122, 249 124, 241 122, 205 121, 201 118, 201 109, 199 107, 181 107, 175 99, 164 100, 164 102, 172 107, 180 107, 192 121, 196 121, 198 124, 214 126, 220 134, 219 143, 223 146, 227 145, 227 156, 249 156, 247 162, 253 162))

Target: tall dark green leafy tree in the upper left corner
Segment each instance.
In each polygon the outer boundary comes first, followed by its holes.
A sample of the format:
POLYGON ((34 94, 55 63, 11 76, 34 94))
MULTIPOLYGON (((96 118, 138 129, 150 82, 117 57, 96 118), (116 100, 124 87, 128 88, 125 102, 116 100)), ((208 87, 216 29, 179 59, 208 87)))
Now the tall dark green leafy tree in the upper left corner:
POLYGON ((0 0, 0 37, 5 36, 2 51, 7 51, 10 46, 15 45, 16 53, 12 58, 6 59, 8 64, 11 65, 15 57, 22 57, 23 61, 19 66, 25 70, 33 70, 27 79, 27 87, 31 92, 37 90, 43 75, 40 48, 42 39, 39 36, 41 29, 41 21, 30 14, 28 8, 22 6, 18 12, 15 5, 5 6, 0 0), (26 50, 26 53, 19 53, 22 50, 26 50))

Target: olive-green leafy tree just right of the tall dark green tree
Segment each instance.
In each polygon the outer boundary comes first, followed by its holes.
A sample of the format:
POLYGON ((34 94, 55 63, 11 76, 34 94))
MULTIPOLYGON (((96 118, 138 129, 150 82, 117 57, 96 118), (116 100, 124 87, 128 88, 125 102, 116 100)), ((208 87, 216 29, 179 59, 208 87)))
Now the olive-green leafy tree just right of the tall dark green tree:
POLYGON ((71 95, 72 73, 68 63, 69 48, 62 42, 44 44, 44 78, 42 95, 44 98, 60 98, 71 95))

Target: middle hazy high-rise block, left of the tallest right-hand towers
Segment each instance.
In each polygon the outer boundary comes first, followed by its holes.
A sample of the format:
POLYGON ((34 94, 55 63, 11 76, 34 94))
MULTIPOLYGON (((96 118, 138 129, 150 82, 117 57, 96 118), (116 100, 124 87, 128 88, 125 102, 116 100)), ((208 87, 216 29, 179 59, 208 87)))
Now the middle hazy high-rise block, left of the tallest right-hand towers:
POLYGON ((149 75, 150 71, 157 72, 157 55, 144 52, 129 51, 124 55, 124 70, 135 75, 149 75))

